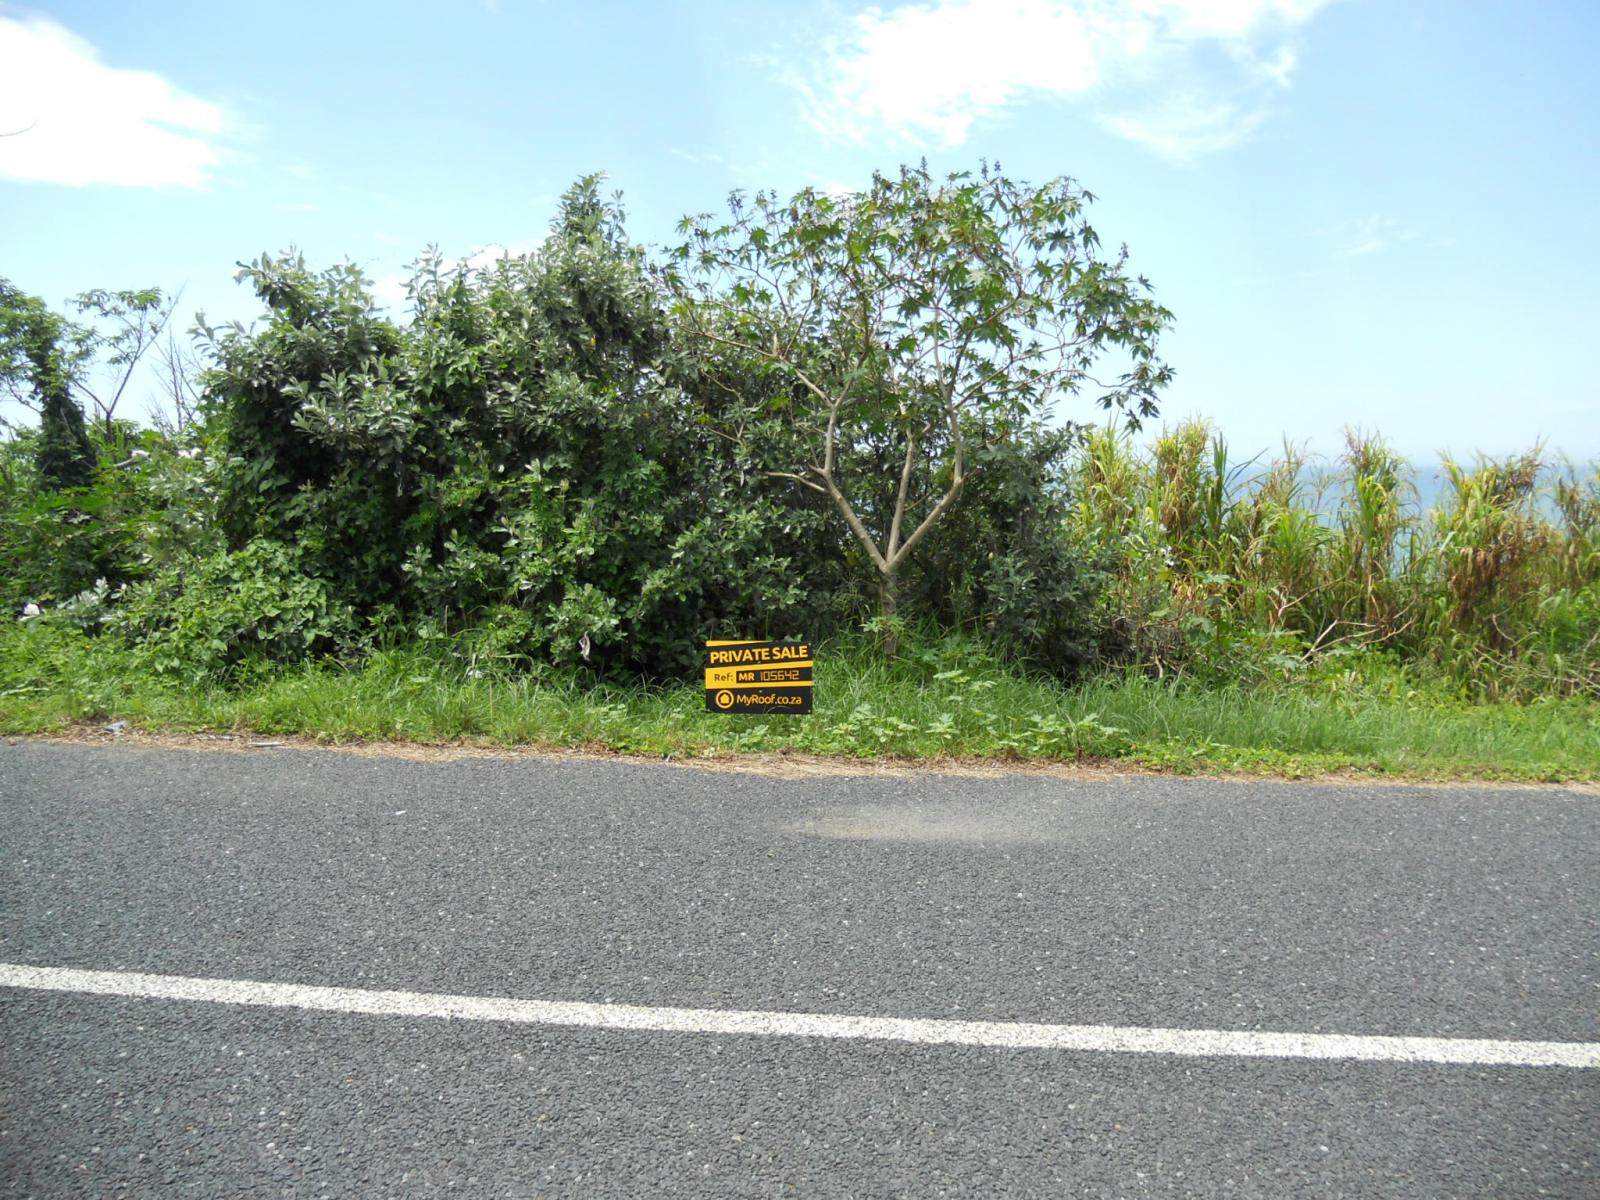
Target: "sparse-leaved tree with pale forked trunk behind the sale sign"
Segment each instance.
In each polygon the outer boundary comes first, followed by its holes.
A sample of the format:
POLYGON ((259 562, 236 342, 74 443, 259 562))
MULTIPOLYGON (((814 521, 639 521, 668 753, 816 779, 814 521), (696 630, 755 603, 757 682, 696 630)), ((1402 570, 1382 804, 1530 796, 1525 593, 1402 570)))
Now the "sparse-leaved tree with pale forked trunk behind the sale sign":
MULTIPOLYGON (((885 618, 917 546, 1059 397, 1093 386, 1131 426, 1157 410, 1171 314, 1126 246, 1099 254, 1091 200, 1067 178, 1035 187, 984 163, 936 181, 923 163, 846 195, 734 192, 726 221, 678 226, 664 282, 702 357, 787 384, 738 414, 738 435, 802 435, 768 474, 832 502, 885 618), (1099 382, 1107 354, 1120 373, 1099 382)), ((893 654, 893 622, 886 638, 893 654)))

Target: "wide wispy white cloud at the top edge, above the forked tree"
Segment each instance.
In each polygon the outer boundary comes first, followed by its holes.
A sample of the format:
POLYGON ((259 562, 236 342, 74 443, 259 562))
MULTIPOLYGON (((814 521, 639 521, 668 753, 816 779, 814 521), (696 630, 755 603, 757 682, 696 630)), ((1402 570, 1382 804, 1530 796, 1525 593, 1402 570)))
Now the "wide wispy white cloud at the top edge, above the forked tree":
POLYGON ((1237 144, 1288 88, 1288 43, 1330 0, 931 0, 869 8, 795 80, 827 136, 888 133, 960 146, 1035 98, 1093 104, 1099 122, 1171 158, 1237 144), (1203 69, 1203 51, 1219 50, 1203 69))

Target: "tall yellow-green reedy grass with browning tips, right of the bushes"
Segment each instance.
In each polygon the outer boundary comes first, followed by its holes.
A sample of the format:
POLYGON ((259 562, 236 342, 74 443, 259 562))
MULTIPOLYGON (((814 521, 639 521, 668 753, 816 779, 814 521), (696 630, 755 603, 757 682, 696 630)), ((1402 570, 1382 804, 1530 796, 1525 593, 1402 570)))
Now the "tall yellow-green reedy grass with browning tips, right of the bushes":
POLYGON ((1109 654, 1251 682, 1370 650, 1480 699, 1600 696, 1600 472, 1538 450, 1445 472, 1424 507, 1374 435, 1310 464, 1240 462, 1203 422, 1093 430, 1072 522, 1110 565, 1109 654))

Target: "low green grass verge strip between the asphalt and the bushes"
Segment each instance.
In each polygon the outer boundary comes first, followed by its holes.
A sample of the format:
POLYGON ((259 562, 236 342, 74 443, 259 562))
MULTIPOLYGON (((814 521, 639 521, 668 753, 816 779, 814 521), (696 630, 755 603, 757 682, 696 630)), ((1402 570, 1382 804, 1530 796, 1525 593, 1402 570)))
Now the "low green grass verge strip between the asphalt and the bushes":
POLYGON ((1120 760, 1170 771, 1600 779, 1600 704, 1466 704, 1398 669, 1278 686, 1104 675, 1074 688, 1008 670, 970 642, 883 661, 822 646, 811 717, 704 712, 693 685, 571 675, 472 677, 448 653, 392 650, 232 685, 154 677, 112 638, 48 626, 0 634, 0 731, 125 720, 152 731, 253 731, 328 742, 587 747, 650 755, 792 750, 854 758, 1120 760))

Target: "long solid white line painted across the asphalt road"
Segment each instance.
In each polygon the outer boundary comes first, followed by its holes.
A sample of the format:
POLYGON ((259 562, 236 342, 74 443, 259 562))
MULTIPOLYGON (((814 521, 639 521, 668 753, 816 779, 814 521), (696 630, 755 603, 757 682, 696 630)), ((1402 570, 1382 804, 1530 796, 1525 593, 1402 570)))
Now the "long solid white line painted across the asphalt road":
POLYGON ((757 1037, 877 1038, 928 1046, 1080 1050, 1189 1058, 1314 1058, 1362 1062, 1456 1066, 1600 1067, 1600 1042, 1498 1042, 1454 1037, 1355 1037, 1347 1034, 1261 1034, 1221 1029, 1043 1026, 1008 1021, 923 1021, 826 1013, 744 1013, 710 1008, 645 1008, 565 1000, 514 1000, 429 992, 309 987, 251 979, 192 979, 181 974, 78 971, 0 963, 0 987, 88 992, 147 1000, 370 1013, 442 1021, 502 1021, 528 1026, 648 1030, 656 1034, 750 1034, 757 1037))

